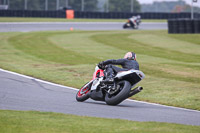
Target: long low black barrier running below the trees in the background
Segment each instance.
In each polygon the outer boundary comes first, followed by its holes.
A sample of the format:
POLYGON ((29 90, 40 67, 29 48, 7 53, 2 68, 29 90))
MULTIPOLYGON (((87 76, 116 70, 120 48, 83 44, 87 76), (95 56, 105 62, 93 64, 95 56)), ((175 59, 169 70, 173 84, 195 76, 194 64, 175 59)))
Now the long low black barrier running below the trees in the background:
MULTIPOLYGON (((190 13, 130 13, 130 12, 81 12, 74 11, 75 18, 110 18, 127 19, 131 16, 140 15, 142 19, 176 19, 190 18, 190 13)), ((0 17, 48 17, 66 18, 65 10, 58 11, 32 11, 32 10, 0 10, 0 17)), ((200 13, 194 13, 194 18, 200 19, 200 13)))

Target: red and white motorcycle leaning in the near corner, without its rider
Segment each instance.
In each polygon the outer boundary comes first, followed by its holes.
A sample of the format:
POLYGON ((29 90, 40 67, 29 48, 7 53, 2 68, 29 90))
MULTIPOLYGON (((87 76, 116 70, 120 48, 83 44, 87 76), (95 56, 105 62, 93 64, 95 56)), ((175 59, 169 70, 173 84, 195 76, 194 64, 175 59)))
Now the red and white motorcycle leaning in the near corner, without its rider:
POLYGON ((141 92, 142 87, 131 89, 138 82, 145 78, 142 71, 128 70, 118 72, 114 76, 113 83, 105 83, 105 71, 98 67, 95 68, 91 81, 83 85, 76 94, 76 100, 83 102, 88 98, 96 101, 104 101, 108 105, 118 105, 125 99, 141 92))

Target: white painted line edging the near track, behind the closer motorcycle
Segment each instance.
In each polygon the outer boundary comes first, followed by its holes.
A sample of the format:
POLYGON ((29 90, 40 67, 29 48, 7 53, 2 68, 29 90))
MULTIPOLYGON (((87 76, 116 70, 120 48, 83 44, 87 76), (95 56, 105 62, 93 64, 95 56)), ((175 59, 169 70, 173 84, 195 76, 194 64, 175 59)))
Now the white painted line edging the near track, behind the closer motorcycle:
MULTIPOLYGON (((4 70, 4 69, 1 69, 1 68, 0 68, 0 71, 6 72, 6 73, 10 73, 10 74, 13 74, 13 75, 17 75, 17 76, 20 76, 20 77, 28 78, 28 79, 34 79, 34 80, 36 80, 38 82, 46 83, 46 84, 49 84, 49 85, 54 85, 54 86, 58 86, 58 87, 62 87, 62 88, 67 88, 67 89, 71 89, 71 90, 76 90, 76 91, 79 90, 77 88, 73 88, 73 87, 69 87, 69 86, 64 86, 64 85, 52 83, 52 82, 49 82, 49 81, 44 81, 44 80, 41 80, 41 79, 37 79, 37 78, 34 78, 34 77, 26 76, 26 75, 19 74, 19 73, 16 73, 16 72, 11 72, 11 71, 4 70)), ((185 110, 185 111, 192 111, 192 112, 200 113, 200 111, 198 111, 198 110, 192 110, 192 109, 186 109, 186 108, 180 108, 180 107, 167 106, 167 105, 162 105, 162 104, 157 104, 157 103, 149 103, 149 102, 137 101, 137 100, 132 100, 132 99, 127 99, 127 101, 132 101, 132 102, 137 102, 137 103, 144 103, 144 104, 150 104, 150 105, 168 107, 168 108, 172 108, 172 109, 179 109, 179 110, 185 110)))

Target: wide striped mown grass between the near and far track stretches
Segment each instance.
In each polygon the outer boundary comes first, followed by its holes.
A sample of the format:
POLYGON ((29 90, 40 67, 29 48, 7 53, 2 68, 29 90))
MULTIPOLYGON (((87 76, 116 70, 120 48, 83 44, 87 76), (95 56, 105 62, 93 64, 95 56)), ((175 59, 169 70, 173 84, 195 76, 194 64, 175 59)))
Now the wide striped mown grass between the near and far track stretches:
POLYGON ((0 33, 0 67, 80 88, 98 62, 134 51, 146 78, 132 99, 200 110, 198 38, 167 31, 0 33))

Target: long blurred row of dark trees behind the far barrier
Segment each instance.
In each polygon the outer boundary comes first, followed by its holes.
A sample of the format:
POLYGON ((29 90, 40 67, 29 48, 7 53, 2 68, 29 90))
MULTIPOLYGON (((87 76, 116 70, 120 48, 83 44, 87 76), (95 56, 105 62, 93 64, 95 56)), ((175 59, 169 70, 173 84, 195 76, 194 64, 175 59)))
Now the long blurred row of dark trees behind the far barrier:
MULTIPOLYGON (((0 0, 0 2, 1 1, 4 0, 0 0)), ((141 6, 137 0, 7 0, 7 1, 9 1, 9 9, 12 10, 24 10, 24 9, 61 10, 64 7, 65 8, 70 7, 75 11, 82 11, 83 9, 84 11, 102 11, 99 9, 99 3, 103 4, 102 6, 104 8, 103 11, 140 12, 141 10, 141 6)))

